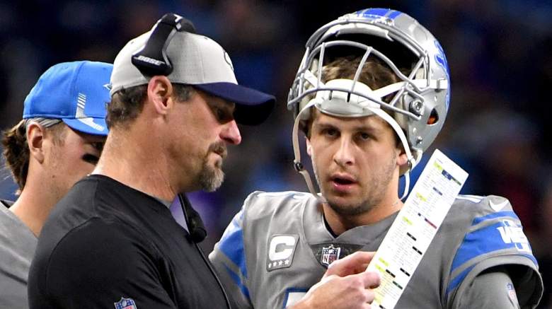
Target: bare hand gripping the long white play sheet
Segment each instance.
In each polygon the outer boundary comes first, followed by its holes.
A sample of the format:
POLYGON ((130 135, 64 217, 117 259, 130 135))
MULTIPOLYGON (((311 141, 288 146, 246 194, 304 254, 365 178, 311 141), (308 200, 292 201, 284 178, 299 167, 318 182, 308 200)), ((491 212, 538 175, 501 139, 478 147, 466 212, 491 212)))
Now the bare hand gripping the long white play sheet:
POLYGON ((322 280, 309 289, 304 298, 289 307, 302 308, 371 308, 372 288, 379 286, 379 274, 364 272, 374 252, 355 252, 330 264, 322 280))

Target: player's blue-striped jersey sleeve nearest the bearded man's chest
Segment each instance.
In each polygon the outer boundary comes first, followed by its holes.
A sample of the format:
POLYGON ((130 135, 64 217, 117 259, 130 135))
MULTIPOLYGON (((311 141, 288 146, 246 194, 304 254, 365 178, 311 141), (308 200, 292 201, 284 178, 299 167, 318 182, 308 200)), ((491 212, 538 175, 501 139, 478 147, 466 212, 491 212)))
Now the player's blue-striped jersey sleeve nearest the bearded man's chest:
POLYGON ((231 294, 238 308, 253 308, 248 286, 246 252, 243 245, 244 209, 234 216, 222 238, 209 254, 224 289, 231 294))

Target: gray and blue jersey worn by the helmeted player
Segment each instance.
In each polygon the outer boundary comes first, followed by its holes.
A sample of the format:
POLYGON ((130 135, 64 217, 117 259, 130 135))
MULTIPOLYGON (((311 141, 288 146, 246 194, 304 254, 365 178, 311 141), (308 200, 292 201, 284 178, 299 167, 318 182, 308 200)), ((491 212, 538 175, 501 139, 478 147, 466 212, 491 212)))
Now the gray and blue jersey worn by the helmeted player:
MULTIPOLYGON (((254 192, 209 258, 241 308, 285 308, 334 260, 377 250, 395 217, 334 238, 311 194, 254 192)), ((396 308, 535 308, 542 292, 537 262, 510 203, 461 196, 396 308)))

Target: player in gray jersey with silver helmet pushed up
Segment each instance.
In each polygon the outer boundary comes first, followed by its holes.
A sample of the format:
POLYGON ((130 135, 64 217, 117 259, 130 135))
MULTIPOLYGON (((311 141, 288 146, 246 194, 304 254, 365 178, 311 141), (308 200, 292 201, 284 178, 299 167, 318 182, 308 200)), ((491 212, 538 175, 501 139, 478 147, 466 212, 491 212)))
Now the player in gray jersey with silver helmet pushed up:
MULTIPOLYGON (((288 98, 294 167, 310 192, 254 192, 209 255, 241 308, 293 305, 333 261, 378 249, 449 96, 441 45, 405 13, 357 11, 310 37, 288 98), (319 193, 300 160, 299 129, 319 193)), ((535 308, 542 292, 510 202, 460 195, 396 308, 535 308)))

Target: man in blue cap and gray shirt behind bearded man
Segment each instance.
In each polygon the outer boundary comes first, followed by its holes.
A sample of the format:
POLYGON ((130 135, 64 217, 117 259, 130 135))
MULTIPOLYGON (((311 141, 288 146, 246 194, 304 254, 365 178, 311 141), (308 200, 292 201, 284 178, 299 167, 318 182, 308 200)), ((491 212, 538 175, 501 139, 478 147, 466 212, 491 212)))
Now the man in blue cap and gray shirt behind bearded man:
POLYGON ((16 202, 0 205, 0 308, 28 308, 27 279, 37 237, 54 205, 98 162, 108 127, 112 64, 64 62, 27 95, 23 119, 3 133, 16 202))

